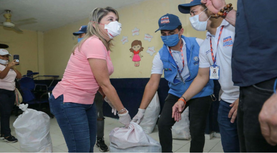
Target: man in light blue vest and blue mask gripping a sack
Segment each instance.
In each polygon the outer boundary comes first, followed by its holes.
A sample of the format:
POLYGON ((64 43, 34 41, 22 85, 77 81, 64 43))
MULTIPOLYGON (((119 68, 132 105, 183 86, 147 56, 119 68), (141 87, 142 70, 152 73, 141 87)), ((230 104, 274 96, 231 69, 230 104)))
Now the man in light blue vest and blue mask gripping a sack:
POLYGON ((176 122, 171 117, 172 107, 178 99, 187 103, 186 107, 189 106, 190 152, 203 152, 206 119, 212 104, 213 81, 210 80, 204 89, 190 101, 182 97, 197 75, 199 45, 203 40, 182 36, 184 29, 176 15, 166 14, 159 19, 158 23, 159 29, 156 31, 161 31, 164 45, 153 59, 150 80, 144 89, 139 111, 132 121, 139 124, 143 119, 144 112, 159 87, 164 71, 164 78, 169 82, 170 89, 158 122, 162 152, 172 152, 171 128, 176 122))

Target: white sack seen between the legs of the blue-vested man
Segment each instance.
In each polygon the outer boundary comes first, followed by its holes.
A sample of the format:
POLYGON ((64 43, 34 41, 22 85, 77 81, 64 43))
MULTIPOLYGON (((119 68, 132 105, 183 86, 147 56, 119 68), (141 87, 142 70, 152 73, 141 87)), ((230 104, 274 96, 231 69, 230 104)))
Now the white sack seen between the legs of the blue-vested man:
POLYGON ((187 107, 181 114, 181 120, 175 122, 172 127, 173 139, 190 139, 189 132, 189 107, 187 107))

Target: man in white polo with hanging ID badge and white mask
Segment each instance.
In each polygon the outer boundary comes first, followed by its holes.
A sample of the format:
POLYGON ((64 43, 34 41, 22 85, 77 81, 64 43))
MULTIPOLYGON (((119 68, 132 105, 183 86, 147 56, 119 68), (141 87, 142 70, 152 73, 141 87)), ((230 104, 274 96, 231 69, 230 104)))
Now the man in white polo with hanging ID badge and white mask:
MULTIPOLYGON (((191 15, 189 20, 195 30, 207 30, 207 38, 200 46, 198 74, 182 96, 189 100, 202 90, 209 79, 217 79, 223 91, 220 96, 221 100, 217 116, 223 151, 240 152, 236 119, 239 87, 233 85, 231 70, 235 27, 223 18, 211 18, 211 12, 204 4, 201 4, 201 0, 180 4, 178 8, 181 13, 191 15), (211 73, 212 71, 219 73, 214 76, 211 73)), ((176 102, 172 107, 172 117, 175 117, 177 121, 181 115, 182 108, 184 108, 182 101, 176 102)))

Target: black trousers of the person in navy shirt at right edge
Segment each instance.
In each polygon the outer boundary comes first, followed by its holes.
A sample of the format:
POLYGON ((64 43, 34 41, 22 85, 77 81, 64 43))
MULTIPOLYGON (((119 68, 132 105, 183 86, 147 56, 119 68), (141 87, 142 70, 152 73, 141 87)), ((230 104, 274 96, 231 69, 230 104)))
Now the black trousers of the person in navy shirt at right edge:
POLYGON ((240 87, 237 117, 240 152, 277 152, 277 146, 271 146, 264 139, 258 121, 264 102, 273 94, 274 81, 240 87))

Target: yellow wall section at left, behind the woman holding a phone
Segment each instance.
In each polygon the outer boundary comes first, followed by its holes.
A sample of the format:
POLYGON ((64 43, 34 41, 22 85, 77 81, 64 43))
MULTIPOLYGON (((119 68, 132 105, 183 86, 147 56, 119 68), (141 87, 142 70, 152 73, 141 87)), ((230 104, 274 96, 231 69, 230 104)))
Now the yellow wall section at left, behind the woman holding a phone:
POLYGON ((22 75, 26 74, 27 70, 38 71, 37 31, 23 31, 23 34, 19 34, 0 26, 0 43, 9 45, 7 50, 12 55, 10 61, 13 60, 14 54, 19 55, 20 65, 17 69, 22 75))

